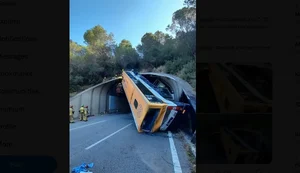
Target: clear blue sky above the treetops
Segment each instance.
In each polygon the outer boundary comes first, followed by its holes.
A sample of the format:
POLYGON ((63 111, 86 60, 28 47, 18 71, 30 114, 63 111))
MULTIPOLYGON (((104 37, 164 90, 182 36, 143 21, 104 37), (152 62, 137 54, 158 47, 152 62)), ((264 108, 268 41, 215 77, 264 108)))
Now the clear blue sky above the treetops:
POLYGON ((182 7, 183 0, 70 0, 70 39, 83 45, 84 32, 99 24, 135 47, 146 32, 166 32, 182 7))

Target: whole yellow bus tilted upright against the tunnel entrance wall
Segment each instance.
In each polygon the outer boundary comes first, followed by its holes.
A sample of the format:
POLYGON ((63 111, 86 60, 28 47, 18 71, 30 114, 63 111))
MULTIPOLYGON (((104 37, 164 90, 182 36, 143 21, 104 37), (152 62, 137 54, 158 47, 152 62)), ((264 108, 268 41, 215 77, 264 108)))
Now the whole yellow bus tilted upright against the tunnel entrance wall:
POLYGON ((146 78, 134 71, 122 72, 122 86, 138 132, 166 130, 188 106, 164 98, 146 78))

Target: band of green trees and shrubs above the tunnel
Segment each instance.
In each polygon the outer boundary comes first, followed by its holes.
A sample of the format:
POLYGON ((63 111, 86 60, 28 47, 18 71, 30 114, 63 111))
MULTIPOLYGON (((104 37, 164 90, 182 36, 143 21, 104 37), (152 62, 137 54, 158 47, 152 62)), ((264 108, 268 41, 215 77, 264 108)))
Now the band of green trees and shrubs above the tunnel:
POLYGON ((196 1, 184 4, 167 27, 175 38, 162 31, 145 33, 134 48, 125 39, 116 44, 113 34, 97 25, 84 33, 86 46, 70 40, 70 93, 114 77, 122 69, 170 73, 195 87, 196 1))

